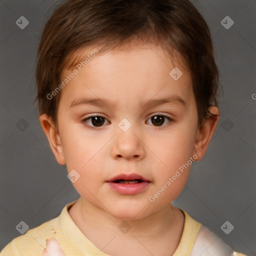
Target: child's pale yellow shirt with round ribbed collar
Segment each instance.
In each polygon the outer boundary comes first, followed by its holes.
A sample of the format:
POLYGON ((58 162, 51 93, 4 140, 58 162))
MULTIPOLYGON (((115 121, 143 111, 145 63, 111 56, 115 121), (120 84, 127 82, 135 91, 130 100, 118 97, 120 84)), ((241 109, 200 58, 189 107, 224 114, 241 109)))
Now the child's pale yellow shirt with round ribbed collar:
MULTIPOLYGON (((60 215, 56 218, 29 229, 25 234, 14 238, 2 249, 0 256, 41 256, 43 249, 46 247, 46 240, 51 237, 58 240, 66 256, 111 256, 98 249, 75 225, 67 211, 74 203, 75 201, 66 204, 60 215)), ((184 210, 182 212, 185 215, 184 229, 180 243, 173 256, 190 256, 199 229, 202 226, 201 223, 191 218, 184 210)), ((213 255, 209 254, 207 248, 203 248, 201 251, 206 252, 205 255, 213 255)), ((201 251, 199 254, 204 255, 201 251)), ((193 252, 193 254, 195 253, 193 252)), ((245 256, 244 254, 233 251, 231 254, 223 255, 245 256)))

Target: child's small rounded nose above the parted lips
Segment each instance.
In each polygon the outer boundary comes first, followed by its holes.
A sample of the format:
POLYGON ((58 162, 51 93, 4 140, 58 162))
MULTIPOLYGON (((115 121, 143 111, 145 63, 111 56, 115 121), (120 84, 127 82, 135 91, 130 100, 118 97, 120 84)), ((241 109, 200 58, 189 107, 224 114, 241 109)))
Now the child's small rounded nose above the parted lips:
MULTIPOLYGON (((119 129, 119 127, 118 127, 119 129)), ((142 159, 145 156, 143 136, 132 126, 127 130, 117 130, 111 149, 111 156, 115 159, 142 159)))

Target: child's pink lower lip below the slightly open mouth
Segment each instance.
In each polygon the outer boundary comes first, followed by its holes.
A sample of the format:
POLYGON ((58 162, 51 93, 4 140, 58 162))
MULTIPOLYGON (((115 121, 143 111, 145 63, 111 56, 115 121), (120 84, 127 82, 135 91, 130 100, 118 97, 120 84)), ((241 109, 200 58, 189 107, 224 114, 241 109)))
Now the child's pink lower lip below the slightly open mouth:
POLYGON ((139 183, 130 183, 130 184, 115 183, 115 182, 107 182, 107 183, 110 185, 110 187, 113 190, 115 190, 120 194, 136 194, 144 190, 150 184, 149 181, 143 181, 139 183))

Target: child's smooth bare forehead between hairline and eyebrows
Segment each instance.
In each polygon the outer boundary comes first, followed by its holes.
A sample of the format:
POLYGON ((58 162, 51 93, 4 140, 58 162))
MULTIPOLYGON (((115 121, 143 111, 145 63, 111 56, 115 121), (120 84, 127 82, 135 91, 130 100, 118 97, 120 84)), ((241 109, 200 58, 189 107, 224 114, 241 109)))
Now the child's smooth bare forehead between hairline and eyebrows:
POLYGON ((189 72, 175 51, 170 59, 166 51, 155 45, 131 45, 91 54, 95 49, 80 49, 75 54, 81 61, 63 70, 61 80, 72 70, 77 71, 69 85, 62 89, 65 99, 73 101, 74 95, 80 93, 93 98, 103 96, 118 99, 120 96, 123 100, 129 96, 139 100, 149 99, 156 94, 164 95, 167 91, 179 93, 186 100, 193 95, 189 72), (178 70, 180 73, 176 72, 178 70), (178 76, 182 73, 177 80, 173 79, 177 78, 176 73, 178 76))

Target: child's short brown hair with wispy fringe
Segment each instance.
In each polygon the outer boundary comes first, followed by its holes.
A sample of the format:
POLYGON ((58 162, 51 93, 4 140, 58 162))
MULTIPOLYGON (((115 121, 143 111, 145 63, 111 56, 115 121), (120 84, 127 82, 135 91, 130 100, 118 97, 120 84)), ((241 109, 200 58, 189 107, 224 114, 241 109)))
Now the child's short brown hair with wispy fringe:
POLYGON ((37 107, 57 124, 61 91, 47 95, 60 83, 64 68, 79 57, 82 47, 115 48, 131 40, 160 45, 170 57, 177 51, 190 72, 198 125, 217 106, 218 69, 209 28, 189 0, 66 0, 44 26, 35 70, 37 107))

